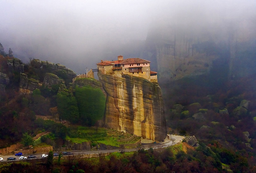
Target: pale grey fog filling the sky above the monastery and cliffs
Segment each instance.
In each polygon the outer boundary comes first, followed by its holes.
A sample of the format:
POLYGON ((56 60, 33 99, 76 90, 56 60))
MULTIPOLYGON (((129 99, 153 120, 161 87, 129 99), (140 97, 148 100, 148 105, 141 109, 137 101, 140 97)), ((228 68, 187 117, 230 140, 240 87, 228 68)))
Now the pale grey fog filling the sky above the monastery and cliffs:
POLYGON ((47 60, 78 74, 101 59, 136 56, 156 28, 209 37, 220 33, 220 39, 237 28, 244 29, 245 37, 256 33, 255 1, 0 0, 0 7, 5 52, 11 48, 25 63, 29 58, 47 60))

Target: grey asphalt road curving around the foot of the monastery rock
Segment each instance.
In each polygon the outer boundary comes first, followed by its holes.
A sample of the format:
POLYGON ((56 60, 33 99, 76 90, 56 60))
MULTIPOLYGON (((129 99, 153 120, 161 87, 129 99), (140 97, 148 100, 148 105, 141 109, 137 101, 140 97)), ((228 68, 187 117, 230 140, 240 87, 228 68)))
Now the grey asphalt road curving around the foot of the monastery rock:
MULTIPOLYGON (((169 140, 165 140, 164 142, 156 143, 156 144, 142 144, 142 146, 146 150, 149 149, 150 147, 152 147, 153 149, 154 148, 164 148, 164 147, 175 145, 178 142, 182 141, 183 138, 184 138, 184 136, 179 136, 179 135, 174 135, 174 134, 169 135, 169 137, 170 137, 170 139, 169 140)), ((136 148, 125 149, 125 152, 131 152, 131 151, 137 151, 137 149, 136 148)), ((95 153, 107 153, 107 152, 120 152, 120 151, 119 151, 119 149, 114 149, 114 150, 79 150, 79 151, 68 151, 68 152, 72 152, 74 155, 79 155, 79 154, 95 154, 95 153)), ((53 153, 60 153, 60 152, 53 152, 53 153)), ((28 157, 30 155, 33 155, 33 156, 36 156, 37 158, 41 158, 41 154, 48 154, 48 153, 23 154, 22 156, 28 157)), ((16 161, 20 160, 19 159, 20 156, 15 156, 15 155, 3 155, 3 156, 0 156, 0 157, 3 158, 3 161, 6 161, 7 158, 9 158, 9 157, 17 158, 16 161)))

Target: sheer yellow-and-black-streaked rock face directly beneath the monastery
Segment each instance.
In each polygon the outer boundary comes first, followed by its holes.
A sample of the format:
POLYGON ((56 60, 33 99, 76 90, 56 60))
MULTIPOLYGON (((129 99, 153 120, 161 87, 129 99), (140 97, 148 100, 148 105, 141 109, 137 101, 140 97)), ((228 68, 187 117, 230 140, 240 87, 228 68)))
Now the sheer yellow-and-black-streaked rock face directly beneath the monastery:
POLYGON ((140 77, 104 75, 107 93, 104 123, 108 128, 162 141, 167 134, 161 88, 140 77))

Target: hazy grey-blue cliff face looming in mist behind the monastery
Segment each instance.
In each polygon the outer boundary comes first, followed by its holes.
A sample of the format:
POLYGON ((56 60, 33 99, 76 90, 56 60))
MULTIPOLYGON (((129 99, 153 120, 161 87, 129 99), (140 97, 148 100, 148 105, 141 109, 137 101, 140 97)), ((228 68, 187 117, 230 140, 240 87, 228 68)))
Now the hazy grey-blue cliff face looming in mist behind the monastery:
MULTIPOLYGON (((256 42, 245 28, 217 26, 208 30, 154 28, 142 57, 158 71, 159 81, 207 74, 210 70, 234 78, 256 73, 256 42)), ((247 28, 248 29, 248 28, 247 28)))

